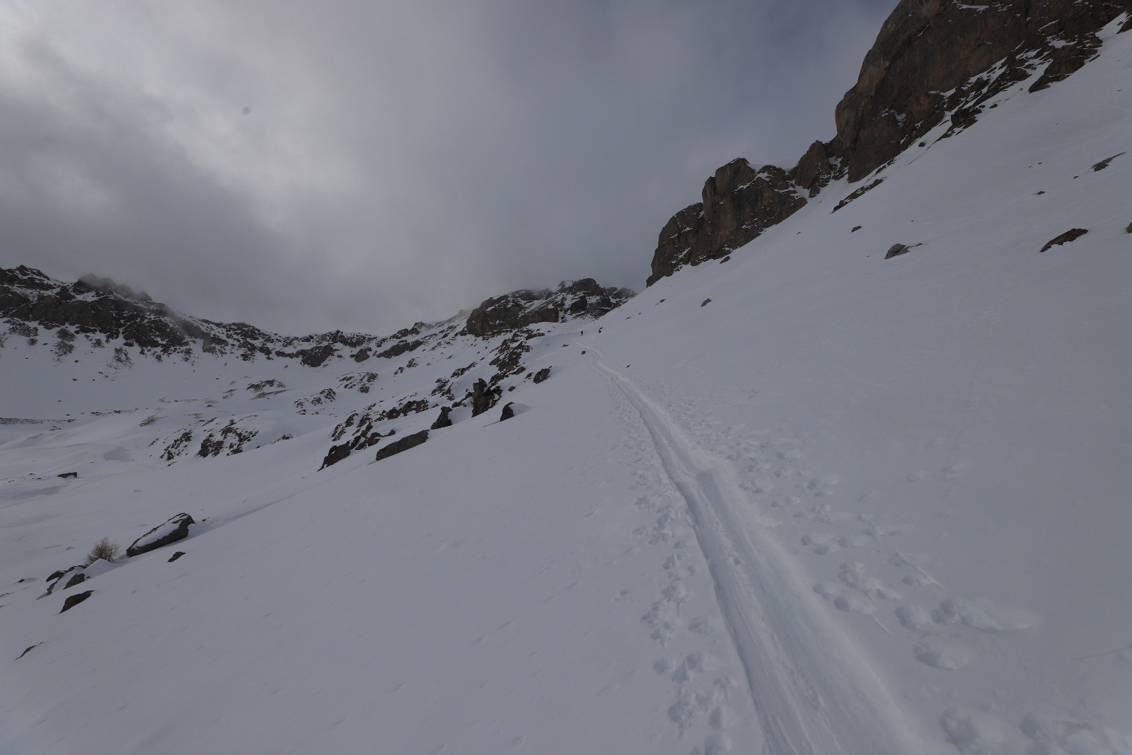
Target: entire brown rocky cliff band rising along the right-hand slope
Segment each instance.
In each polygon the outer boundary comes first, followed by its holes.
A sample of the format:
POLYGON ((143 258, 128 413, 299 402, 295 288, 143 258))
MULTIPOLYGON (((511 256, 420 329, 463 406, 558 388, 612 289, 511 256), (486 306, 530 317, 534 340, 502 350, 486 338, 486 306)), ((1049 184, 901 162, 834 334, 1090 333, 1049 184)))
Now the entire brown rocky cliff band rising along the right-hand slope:
POLYGON ((1130 10, 1129 0, 901 0, 837 106, 837 136, 790 170, 739 158, 715 171, 703 200, 661 230, 649 285, 727 256, 831 180, 869 175, 945 119, 949 136, 967 128, 989 97, 1039 70, 1030 92, 1070 76, 1096 54, 1097 32, 1130 10))

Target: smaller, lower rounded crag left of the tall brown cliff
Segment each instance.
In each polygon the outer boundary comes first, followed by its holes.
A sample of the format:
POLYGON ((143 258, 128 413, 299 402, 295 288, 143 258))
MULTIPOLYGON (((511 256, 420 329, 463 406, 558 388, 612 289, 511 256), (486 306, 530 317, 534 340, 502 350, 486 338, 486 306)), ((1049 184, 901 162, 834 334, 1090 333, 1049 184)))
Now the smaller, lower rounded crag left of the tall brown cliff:
MULTIPOLYGON (((817 186, 820 164, 809 170, 817 186)), ((756 171, 741 157, 732 160, 704 183, 702 203, 685 207, 661 230, 648 284, 684 265, 726 257, 805 205, 782 169, 765 165, 756 171)))

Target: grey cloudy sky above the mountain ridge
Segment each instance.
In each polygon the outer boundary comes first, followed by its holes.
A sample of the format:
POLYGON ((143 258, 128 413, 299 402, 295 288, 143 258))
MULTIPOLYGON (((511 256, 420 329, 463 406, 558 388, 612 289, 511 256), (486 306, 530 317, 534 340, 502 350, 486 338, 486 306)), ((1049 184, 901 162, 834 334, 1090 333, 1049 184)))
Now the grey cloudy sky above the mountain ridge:
POLYGON ((385 333, 592 276, 792 165, 895 0, 5 0, 0 266, 385 333))

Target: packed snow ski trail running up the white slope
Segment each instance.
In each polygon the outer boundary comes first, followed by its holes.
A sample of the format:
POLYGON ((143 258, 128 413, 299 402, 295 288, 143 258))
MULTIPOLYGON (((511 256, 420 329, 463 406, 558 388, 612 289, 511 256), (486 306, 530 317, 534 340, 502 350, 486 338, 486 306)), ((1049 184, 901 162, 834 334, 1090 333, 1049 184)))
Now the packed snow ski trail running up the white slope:
POLYGON ((724 463, 689 443, 667 411, 594 359, 628 400, 687 501, 723 621, 743 663, 765 755, 929 752, 778 543, 738 523, 743 494, 724 463))

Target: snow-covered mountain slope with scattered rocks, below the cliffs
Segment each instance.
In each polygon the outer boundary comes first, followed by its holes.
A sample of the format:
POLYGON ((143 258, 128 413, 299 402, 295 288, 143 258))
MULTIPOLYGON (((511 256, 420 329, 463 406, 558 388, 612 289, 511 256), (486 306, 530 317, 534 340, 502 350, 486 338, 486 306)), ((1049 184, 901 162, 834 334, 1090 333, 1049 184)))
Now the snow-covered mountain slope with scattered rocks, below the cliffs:
POLYGON ((9 335, 0 752, 1132 752, 1118 26, 726 264, 532 326, 499 404, 380 461, 515 332, 369 381, 9 335), (371 404, 376 447, 319 471, 371 404), (241 453, 163 457, 230 420, 241 453))

